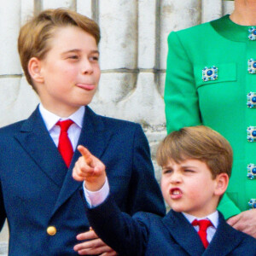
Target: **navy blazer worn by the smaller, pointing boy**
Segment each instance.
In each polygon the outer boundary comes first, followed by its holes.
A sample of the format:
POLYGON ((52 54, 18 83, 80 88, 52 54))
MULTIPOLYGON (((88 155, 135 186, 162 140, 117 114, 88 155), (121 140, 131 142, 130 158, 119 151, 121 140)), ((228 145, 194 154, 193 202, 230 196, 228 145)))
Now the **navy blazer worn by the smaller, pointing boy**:
POLYGON ((111 196, 98 207, 90 209, 85 200, 84 206, 93 229, 119 255, 256 255, 256 239, 233 229, 220 212, 218 229, 205 249, 181 212, 171 210, 164 218, 137 212, 131 218, 119 210, 111 196))

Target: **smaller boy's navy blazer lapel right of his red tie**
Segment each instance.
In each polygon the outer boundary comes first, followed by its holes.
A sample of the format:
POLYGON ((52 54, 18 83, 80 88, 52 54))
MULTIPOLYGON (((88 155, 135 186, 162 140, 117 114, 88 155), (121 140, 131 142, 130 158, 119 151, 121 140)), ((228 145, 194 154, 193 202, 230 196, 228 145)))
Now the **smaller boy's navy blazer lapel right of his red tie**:
POLYGON ((241 242, 241 237, 237 236, 236 231, 225 222, 223 215, 220 212, 218 214, 218 229, 203 254, 204 256, 218 255, 219 252, 221 255, 228 255, 241 242))

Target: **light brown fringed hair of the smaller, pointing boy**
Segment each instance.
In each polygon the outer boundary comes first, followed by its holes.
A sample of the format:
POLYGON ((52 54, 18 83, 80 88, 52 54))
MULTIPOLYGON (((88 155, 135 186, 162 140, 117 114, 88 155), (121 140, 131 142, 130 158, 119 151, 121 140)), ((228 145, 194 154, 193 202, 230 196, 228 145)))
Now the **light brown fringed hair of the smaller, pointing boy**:
POLYGON ((167 165, 169 160, 177 163, 187 159, 201 160, 212 172, 212 178, 223 172, 230 177, 233 151, 230 143, 217 131, 199 125, 169 134, 160 143, 156 159, 160 166, 167 165))

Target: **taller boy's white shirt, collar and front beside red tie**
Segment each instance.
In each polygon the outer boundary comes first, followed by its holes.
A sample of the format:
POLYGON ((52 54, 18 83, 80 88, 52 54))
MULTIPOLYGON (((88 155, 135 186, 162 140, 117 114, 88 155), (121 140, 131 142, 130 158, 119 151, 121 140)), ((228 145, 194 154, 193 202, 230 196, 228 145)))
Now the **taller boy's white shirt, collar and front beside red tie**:
POLYGON ((43 104, 39 104, 39 111, 44 119, 44 124, 46 125, 47 130, 49 131, 49 136, 53 139, 56 147, 59 144, 59 137, 61 133, 61 127, 56 125, 56 123, 61 120, 72 119, 73 124, 70 125, 68 129, 68 137, 73 147, 73 151, 75 151, 78 142, 79 136, 82 130, 83 119, 84 119, 84 106, 80 107, 75 113, 70 115, 67 118, 61 118, 60 116, 55 115, 55 113, 49 112, 46 108, 44 108, 43 104))

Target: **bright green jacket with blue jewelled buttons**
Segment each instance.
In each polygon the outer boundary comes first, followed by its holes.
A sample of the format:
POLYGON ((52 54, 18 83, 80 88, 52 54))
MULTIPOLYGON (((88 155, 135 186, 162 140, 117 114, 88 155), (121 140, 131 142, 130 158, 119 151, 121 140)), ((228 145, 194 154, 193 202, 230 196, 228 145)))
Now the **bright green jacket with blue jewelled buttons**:
POLYGON ((234 164, 218 207, 225 218, 256 199, 255 39, 252 26, 239 26, 229 15, 168 37, 167 131, 207 125, 229 140, 234 164))

